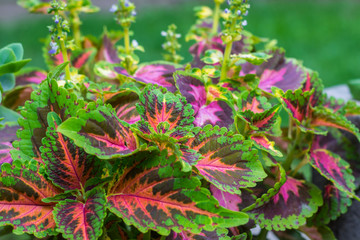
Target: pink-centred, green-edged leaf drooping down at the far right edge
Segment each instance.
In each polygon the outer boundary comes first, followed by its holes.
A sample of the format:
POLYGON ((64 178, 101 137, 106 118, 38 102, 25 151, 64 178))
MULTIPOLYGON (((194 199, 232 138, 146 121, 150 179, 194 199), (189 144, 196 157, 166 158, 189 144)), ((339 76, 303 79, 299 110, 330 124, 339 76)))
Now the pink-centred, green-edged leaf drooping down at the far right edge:
POLYGON ((352 197, 356 197, 355 178, 352 175, 349 163, 339 155, 321 148, 317 140, 313 143, 310 151, 310 164, 339 190, 346 192, 352 197))

